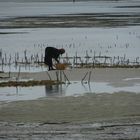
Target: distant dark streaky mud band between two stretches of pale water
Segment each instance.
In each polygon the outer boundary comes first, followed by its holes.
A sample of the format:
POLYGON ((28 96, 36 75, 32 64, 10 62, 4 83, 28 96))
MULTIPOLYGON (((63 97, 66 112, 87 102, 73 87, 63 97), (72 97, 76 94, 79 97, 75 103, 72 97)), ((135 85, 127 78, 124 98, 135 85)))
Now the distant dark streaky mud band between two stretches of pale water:
POLYGON ((140 13, 81 13, 0 20, 1 28, 120 27, 139 25, 140 13))

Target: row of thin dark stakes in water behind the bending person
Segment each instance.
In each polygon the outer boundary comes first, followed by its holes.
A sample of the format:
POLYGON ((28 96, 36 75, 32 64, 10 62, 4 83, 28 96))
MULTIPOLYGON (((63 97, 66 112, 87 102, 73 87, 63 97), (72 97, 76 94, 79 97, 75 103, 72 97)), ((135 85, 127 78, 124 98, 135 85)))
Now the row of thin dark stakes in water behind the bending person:
MULTIPOLYGON (((94 52, 93 56, 89 56, 88 55, 88 51, 86 51, 86 55, 85 57, 80 57, 78 56, 78 53, 75 53, 75 56, 73 57, 69 57, 68 54, 66 53, 66 56, 61 57, 60 58, 63 63, 72 65, 74 67, 78 67, 78 66, 89 66, 90 64, 92 64, 92 66, 96 66, 96 65, 103 65, 103 66, 140 66, 140 58, 136 57, 133 61, 130 59, 126 58, 126 55, 124 54, 123 57, 117 56, 117 57, 110 57, 110 56, 103 56, 101 54, 101 52, 96 55, 96 52, 94 52)), ((10 55, 9 57, 7 57, 6 54, 4 54, 4 56, 2 56, 2 52, 0 52, 0 66, 1 66, 1 70, 3 71, 4 66, 8 65, 9 68, 12 64, 16 66, 18 65, 31 65, 31 64, 42 64, 44 63, 44 55, 41 54, 39 55, 37 54, 31 54, 30 56, 27 56, 27 51, 24 51, 24 56, 23 58, 19 57, 19 53, 15 54, 15 57, 13 59, 13 57, 10 55)))

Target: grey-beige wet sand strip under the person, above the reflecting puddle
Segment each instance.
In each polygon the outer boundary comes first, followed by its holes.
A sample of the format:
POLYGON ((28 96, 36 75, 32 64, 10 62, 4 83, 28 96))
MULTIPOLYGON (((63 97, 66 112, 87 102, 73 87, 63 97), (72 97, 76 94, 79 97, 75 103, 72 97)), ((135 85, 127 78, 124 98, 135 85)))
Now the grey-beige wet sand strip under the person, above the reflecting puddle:
MULTIPOLYGON (((113 86, 126 86, 140 83, 140 69, 139 68, 72 68, 64 70, 65 75, 69 81, 81 81, 86 73, 91 71, 91 82, 108 82, 113 86)), ((44 71, 44 72, 12 72, 11 80, 19 76, 19 79, 32 80, 57 80, 56 72, 60 74, 59 70, 44 71)), ((1 73, 1 77, 8 77, 9 73, 1 73)), ((88 81, 89 75, 84 81, 88 81)), ((62 81, 64 81, 62 73, 62 81)))

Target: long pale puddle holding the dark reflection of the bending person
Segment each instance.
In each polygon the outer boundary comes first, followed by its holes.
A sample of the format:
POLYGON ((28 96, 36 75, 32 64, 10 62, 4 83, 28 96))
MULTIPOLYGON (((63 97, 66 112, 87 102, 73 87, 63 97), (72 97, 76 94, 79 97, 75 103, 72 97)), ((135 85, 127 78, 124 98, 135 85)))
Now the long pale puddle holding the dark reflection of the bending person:
POLYGON ((114 93, 114 92, 139 93, 140 84, 129 87, 113 87, 109 83, 91 82, 90 84, 72 82, 63 85, 47 85, 34 87, 2 87, 0 88, 0 101, 35 100, 42 97, 79 96, 85 93, 114 93))

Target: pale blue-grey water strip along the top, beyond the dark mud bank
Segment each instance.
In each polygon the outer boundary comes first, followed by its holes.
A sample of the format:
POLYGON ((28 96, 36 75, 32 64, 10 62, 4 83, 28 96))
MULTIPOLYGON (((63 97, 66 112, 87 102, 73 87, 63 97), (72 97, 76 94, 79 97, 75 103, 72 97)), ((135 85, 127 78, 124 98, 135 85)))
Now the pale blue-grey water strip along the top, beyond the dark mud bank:
POLYGON ((1 2, 0 18, 78 13, 139 12, 139 0, 84 2, 1 2), (131 7, 130 7, 131 6, 131 7))

